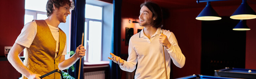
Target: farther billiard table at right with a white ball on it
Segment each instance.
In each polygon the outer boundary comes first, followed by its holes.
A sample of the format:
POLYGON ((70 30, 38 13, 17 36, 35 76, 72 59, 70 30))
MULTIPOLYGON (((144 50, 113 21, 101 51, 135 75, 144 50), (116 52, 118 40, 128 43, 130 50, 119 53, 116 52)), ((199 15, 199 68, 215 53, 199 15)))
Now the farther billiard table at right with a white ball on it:
POLYGON ((256 79, 255 69, 244 69, 244 68, 228 68, 214 70, 214 76, 218 77, 233 77, 233 78, 245 78, 245 79, 256 79), (251 70, 249 73, 248 71, 251 70))

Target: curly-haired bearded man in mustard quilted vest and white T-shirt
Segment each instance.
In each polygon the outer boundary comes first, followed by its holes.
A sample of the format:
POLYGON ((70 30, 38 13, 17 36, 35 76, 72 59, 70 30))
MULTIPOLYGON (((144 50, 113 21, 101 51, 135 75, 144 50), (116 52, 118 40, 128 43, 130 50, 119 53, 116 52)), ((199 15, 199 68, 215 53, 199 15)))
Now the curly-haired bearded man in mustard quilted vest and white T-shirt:
MULTIPOLYGON (((59 28, 61 22, 74 9, 71 0, 48 0, 46 4, 47 16, 45 20, 33 20, 25 24, 21 34, 16 39, 8 54, 8 60, 14 68, 22 74, 22 79, 40 79, 55 69, 66 69, 72 66, 81 56, 85 56, 84 46, 79 45, 75 54, 65 60, 66 35, 59 28), (22 63, 19 54, 26 50, 22 63)), ((60 79, 59 73, 44 77, 44 79, 60 79)))

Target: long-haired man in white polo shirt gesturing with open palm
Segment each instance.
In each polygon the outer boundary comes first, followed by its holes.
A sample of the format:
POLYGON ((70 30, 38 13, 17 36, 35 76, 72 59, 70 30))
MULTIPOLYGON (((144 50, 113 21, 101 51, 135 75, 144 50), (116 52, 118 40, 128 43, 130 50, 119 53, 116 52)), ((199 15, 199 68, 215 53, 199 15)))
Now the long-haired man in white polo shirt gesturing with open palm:
POLYGON ((167 66, 167 77, 170 76, 171 60, 177 66, 182 68, 185 64, 185 56, 182 54, 174 34, 169 30, 162 30, 162 11, 161 8, 153 2, 141 4, 140 26, 143 30, 133 35, 129 41, 127 61, 120 57, 112 55, 109 58, 119 64, 124 71, 132 72, 138 66, 135 73, 135 79, 164 79, 165 66, 167 66), (165 60, 163 60, 163 49, 165 60))

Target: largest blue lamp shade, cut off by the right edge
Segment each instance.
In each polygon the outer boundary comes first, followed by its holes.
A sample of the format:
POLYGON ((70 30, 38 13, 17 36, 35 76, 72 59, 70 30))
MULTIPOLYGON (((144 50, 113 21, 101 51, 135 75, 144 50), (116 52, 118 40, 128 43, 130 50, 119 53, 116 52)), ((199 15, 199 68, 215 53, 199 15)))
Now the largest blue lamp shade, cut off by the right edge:
POLYGON ((247 4, 246 0, 243 0, 242 4, 235 10, 235 12, 230 16, 232 19, 254 19, 256 18, 256 13, 247 4))

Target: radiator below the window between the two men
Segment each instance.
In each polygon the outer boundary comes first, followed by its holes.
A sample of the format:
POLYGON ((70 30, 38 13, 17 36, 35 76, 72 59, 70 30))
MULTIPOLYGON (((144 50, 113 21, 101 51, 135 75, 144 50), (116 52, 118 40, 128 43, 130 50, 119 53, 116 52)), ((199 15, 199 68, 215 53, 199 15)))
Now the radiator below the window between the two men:
POLYGON ((86 72, 84 79, 105 79, 105 71, 86 72))

